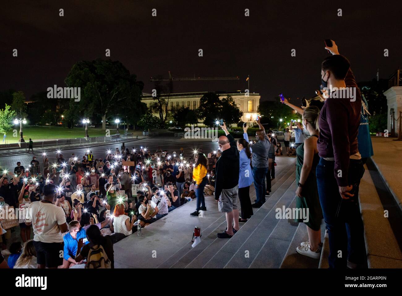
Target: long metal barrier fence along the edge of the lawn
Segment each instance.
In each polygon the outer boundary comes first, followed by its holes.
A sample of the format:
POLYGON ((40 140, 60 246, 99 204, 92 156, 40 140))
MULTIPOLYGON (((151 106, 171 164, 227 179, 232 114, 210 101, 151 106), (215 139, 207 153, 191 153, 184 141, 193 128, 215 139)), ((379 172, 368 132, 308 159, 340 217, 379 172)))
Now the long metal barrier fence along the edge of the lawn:
MULTIPOLYGON (((107 143, 116 142, 126 139, 133 139, 132 133, 123 133, 117 135, 111 135, 110 137, 89 137, 89 138, 77 138, 77 139, 61 139, 61 140, 51 140, 51 141, 39 141, 33 142, 33 148, 57 148, 62 146, 74 146, 74 145, 84 145, 84 144, 96 144, 96 143, 107 143)), ((0 145, 0 151, 10 151, 16 149, 29 149, 29 142, 23 143, 12 143, 12 144, 2 144, 0 145)))

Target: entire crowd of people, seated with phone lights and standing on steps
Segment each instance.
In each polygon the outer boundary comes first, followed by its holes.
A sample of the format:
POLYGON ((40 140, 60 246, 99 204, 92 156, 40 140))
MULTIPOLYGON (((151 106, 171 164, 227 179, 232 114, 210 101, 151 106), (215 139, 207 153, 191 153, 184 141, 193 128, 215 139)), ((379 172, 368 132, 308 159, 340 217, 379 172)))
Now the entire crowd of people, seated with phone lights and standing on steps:
MULTIPOLYGON (((26 209, 19 217, 21 242, 11 244, 8 266, 14 268, 69 268, 86 262, 88 268, 111 267, 113 244, 165 217, 196 199, 199 216, 207 211, 204 195, 213 195, 227 228, 218 238, 231 238, 246 223, 253 209, 261 207, 272 192, 275 157, 296 155, 297 209, 308 210, 309 240, 297 252, 318 259, 322 248, 321 224, 329 235, 329 265, 357 267, 364 262, 363 222, 357 200, 363 164, 373 155, 360 91, 355 100, 331 97, 334 87, 358 89, 349 61, 337 46, 326 48, 332 55, 322 62, 323 106, 300 108, 281 100, 301 114, 301 122, 284 132, 284 147, 260 118, 255 140, 248 139, 248 126, 237 141, 226 125, 216 151, 202 149, 185 153, 136 150, 125 147, 95 158, 91 150, 66 158, 57 151, 55 163, 43 153, 27 168, 16 163, 12 177, 0 179, 0 206, 26 209), (328 88, 327 88, 328 86, 328 88), (329 89, 329 91, 328 91, 329 89), (290 143, 294 130, 295 142, 290 143), (255 202, 250 199, 254 184, 255 202), (240 203, 240 211, 238 209, 240 203), (33 240, 31 228, 33 225, 33 240), (341 250, 343 256, 338 256, 341 250), (59 256, 63 254, 63 256, 59 256)), ((10 229, 2 230, 2 249, 10 229)), ((0 262, 0 266, 4 262, 0 262)))

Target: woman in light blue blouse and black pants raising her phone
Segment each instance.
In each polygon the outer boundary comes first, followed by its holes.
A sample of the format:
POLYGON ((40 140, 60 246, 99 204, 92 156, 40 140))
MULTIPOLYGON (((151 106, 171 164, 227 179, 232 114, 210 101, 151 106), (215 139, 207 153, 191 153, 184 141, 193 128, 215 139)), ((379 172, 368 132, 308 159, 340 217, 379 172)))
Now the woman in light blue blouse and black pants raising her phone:
POLYGON ((252 177, 252 169, 250 166, 251 148, 248 142, 247 125, 243 127, 243 139, 237 140, 237 149, 239 150, 240 172, 239 172, 239 200, 242 209, 242 216, 239 218, 240 223, 247 222, 253 212, 250 200, 250 185, 254 182, 252 177))

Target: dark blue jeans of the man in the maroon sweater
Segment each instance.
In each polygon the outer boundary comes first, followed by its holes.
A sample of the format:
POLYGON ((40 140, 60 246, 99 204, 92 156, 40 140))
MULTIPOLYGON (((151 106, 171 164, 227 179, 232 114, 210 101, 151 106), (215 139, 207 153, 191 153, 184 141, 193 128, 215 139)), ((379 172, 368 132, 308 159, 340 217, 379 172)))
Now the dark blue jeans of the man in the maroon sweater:
POLYGON ((354 197, 342 199, 334 176, 334 161, 320 159, 316 169, 318 195, 328 230, 330 268, 346 268, 347 261, 363 263, 367 260, 364 227, 359 208, 359 184, 364 174, 361 160, 350 159, 348 184, 353 186, 354 197), (340 257, 339 251, 342 251, 340 257), (338 257, 339 256, 339 257, 338 257))

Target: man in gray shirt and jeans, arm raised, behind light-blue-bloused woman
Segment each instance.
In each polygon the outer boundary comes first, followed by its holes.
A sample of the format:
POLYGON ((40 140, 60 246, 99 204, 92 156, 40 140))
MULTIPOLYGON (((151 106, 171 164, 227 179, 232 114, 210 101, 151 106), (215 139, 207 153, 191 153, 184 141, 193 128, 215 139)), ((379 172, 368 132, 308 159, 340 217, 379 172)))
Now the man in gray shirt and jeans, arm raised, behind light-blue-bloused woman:
POLYGON ((259 130, 256 131, 256 142, 251 145, 252 149, 252 174, 254 178, 254 188, 256 193, 256 201, 252 207, 259 208, 265 203, 265 176, 268 172, 268 151, 271 146, 269 137, 265 133, 264 126, 260 122, 260 118, 256 119, 259 130))

